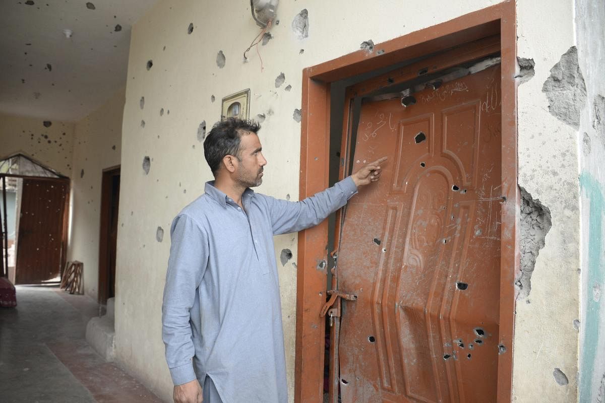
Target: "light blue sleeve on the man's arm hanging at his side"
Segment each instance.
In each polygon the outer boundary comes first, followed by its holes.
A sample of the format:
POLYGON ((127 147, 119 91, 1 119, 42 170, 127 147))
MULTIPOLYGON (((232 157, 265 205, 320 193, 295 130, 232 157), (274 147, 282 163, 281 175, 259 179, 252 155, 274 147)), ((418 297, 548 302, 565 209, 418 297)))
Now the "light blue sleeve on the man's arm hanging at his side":
POLYGON ((171 247, 162 304, 162 340, 175 385, 196 379, 195 347, 189 311, 208 265, 208 237, 192 218, 177 216, 170 230, 171 247))

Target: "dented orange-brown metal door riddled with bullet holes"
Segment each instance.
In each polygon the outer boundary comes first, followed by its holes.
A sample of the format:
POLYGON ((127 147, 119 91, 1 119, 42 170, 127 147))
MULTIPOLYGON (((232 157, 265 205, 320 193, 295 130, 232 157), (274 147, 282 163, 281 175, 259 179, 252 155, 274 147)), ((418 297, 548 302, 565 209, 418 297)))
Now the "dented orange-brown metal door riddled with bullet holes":
POLYGON ((361 108, 353 169, 388 163, 342 227, 342 402, 494 402, 500 66, 414 97, 361 108))

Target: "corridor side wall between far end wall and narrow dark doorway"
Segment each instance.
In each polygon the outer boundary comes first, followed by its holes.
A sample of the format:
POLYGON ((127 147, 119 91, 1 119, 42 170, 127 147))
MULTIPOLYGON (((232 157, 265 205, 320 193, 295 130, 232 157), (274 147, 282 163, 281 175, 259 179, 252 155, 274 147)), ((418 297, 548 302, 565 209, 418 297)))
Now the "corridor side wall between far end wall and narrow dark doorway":
POLYGON ((71 232, 68 260, 84 263, 84 292, 97 299, 103 169, 120 165, 125 88, 78 121, 71 173, 71 232))

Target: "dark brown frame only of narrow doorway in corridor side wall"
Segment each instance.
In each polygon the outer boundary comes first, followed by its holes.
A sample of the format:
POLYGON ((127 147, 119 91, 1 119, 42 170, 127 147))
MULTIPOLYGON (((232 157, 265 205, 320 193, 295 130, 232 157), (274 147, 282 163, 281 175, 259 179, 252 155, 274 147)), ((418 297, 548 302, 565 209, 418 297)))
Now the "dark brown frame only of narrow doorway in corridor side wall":
POLYGON ((99 294, 97 294, 97 302, 105 305, 109 297, 109 273, 108 273, 108 255, 109 247, 108 237, 111 224, 109 214, 111 209, 111 179, 120 175, 120 166, 113 166, 103 169, 101 179, 101 216, 99 221, 99 294))

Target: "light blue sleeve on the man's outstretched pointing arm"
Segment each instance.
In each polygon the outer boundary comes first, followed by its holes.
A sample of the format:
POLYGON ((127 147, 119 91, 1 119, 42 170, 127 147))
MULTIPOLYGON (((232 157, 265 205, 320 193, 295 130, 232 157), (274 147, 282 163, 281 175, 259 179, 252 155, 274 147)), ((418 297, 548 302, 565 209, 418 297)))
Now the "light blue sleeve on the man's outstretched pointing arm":
POLYGON ((269 204, 273 235, 301 231, 322 222, 357 193, 353 178, 348 176, 333 187, 298 202, 266 196, 269 204))

